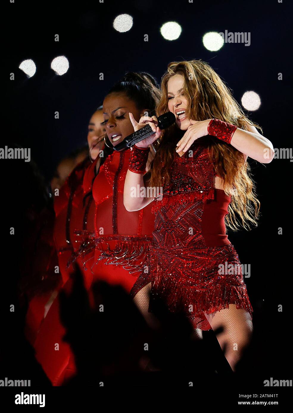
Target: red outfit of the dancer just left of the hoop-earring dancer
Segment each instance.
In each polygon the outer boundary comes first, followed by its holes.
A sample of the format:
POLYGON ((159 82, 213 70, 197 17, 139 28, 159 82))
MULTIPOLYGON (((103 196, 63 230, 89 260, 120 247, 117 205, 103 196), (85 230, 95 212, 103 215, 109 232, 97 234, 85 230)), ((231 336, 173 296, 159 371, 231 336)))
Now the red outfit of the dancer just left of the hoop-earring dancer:
MULTIPOLYGON (((59 196, 55 197, 55 223, 54 238, 58 251, 59 269, 62 275, 62 290, 70 293, 72 288, 73 267, 68 266, 68 261, 74 257, 75 230, 84 228, 84 217, 89 216, 88 202, 84 205, 82 182, 84 171, 91 162, 86 159, 72 171, 65 184, 59 191, 59 196)), ((92 203, 94 214, 94 203, 92 203)), ((93 230, 93 220, 92 230, 93 230)), ((87 223, 86 223, 86 229, 87 223)), ((81 241, 79 239, 79 241, 81 241)), ((75 249, 77 246, 75 247, 75 249)), ((92 251, 94 256, 94 250, 92 251)), ((80 266, 83 272, 86 272, 80 266)), ((84 278, 85 275, 84 275, 84 278)), ((66 378, 72 377, 76 373, 74 356, 67 342, 63 340, 66 329, 60 320, 59 296, 55 298, 53 304, 43 320, 41 328, 36 337, 34 348, 36 359, 41 364, 46 375, 53 386, 62 385, 66 378), (59 344, 59 350, 55 349, 55 344, 59 344)))

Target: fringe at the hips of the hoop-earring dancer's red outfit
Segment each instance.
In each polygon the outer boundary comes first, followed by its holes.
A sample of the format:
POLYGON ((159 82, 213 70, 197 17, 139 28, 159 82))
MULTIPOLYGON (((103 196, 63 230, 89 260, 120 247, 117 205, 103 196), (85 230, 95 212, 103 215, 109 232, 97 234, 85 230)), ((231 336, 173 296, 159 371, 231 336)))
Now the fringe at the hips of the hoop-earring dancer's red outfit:
POLYGON ((105 264, 122 265, 130 274, 143 271, 146 265, 146 257, 149 254, 151 241, 125 241, 118 240, 115 249, 101 249, 101 244, 97 244, 101 256, 98 261, 106 259, 105 264), (137 263, 139 261, 139 263, 137 263))

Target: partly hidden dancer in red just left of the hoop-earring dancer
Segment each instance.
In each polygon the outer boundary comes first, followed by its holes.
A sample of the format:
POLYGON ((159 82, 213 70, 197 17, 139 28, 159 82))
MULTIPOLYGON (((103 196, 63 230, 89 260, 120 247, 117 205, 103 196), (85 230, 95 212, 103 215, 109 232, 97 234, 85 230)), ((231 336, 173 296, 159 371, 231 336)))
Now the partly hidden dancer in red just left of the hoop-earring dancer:
MULTIPOLYGON (((68 265, 68 263, 74 261, 78 255, 79 247, 86 243, 89 234, 94 232, 95 206, 91 194, 84 198, 82 184, 87 166, 91 165, 94 160, 96 160, 96 165, 103 161, 103 158, 100 157, 100 154, 103 153, 105 134, 105 128, 101 126, 102 121, 102 110, 98 108, 89 121, 89 157, 72 171, 59 190, 59 196, 56 196, 54 200, 55 245, 58 249, 59 268, 63 281, 62 290, 68 293, 71 292, 73 282, 70 275, 74 272, 72 265, 68 265), (82 234, 77 236, 77 230, 82 234)), ((90 260, 91 258, 94 259, 94 249, 88 252, 86 259, 90 260)), ((77 259, 77 264, 84 279, 87 279, 88 269, 84 268, 79 259, 77 259)), ((76 373, 74 355, 69 344, 62 339, 65 333, 66 330, 60 320, 59 296, 57 296, 43 320, 34 342, 36 359, 54 386, 62 385, 65 379, 76 373), (59 344, 58 351, 55 350, 55 343, 59 344)))

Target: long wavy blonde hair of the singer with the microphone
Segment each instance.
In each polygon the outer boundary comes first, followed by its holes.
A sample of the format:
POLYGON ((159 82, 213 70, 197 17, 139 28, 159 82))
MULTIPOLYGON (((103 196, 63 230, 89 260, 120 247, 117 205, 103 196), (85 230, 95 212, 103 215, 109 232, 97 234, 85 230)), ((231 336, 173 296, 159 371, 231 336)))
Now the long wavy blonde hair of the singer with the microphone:
MULTIPOLYGON (((168 112, 167 84, 175 74, 184 78, 183 95, 188 100, 185 112, 187 119, 204 121, 215 118, 244 130, 248 123, 262 131, 260 126, 245 116, 219 75, 201 59, 168 64, 168 70, 161 81, 162 96, 156 105, 158 116, 168 112)), ((162 132, 156 156, 146 177, 151 187, 163 187, 170 182, 170 166, 175 154, 177 155, 176 143, 184 133, 176 124, 162 132)), ((232 145, 211 136, 207 139, 210 159, 217 175, 223 179, 226 195, 231 195, 231 204, 225 217, 226 225, 233 231, 241 226, 248 230, 250 224, 257 226, 260 203, 255 194, 254 181, 250 177, 250 165, 245 161, 243 153, 232 145)))

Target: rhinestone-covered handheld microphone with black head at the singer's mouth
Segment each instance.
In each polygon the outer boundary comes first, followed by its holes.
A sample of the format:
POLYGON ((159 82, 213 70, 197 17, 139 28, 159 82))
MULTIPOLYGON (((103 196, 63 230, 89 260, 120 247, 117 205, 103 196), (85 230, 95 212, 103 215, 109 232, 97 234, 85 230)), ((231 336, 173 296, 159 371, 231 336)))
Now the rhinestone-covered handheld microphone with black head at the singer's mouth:
MULTIPOLYGON (((175 115, 172 112, 164 113, 163 115, 158 117, 158 126, 160 129, 166 129, 169 126, 175 123, 175 115)), ((136 132, 133 132, 131 135, 127 136, 122 142, 118 143, 118 145, 113 146, 115 151, 120 151, 122 149, 127 149, 134 146, 137 142, 148 138, 149 136, 153 135, 154 131, 152 130, 151 126, 147 124, 143 128, 139 129, 136 132)))

